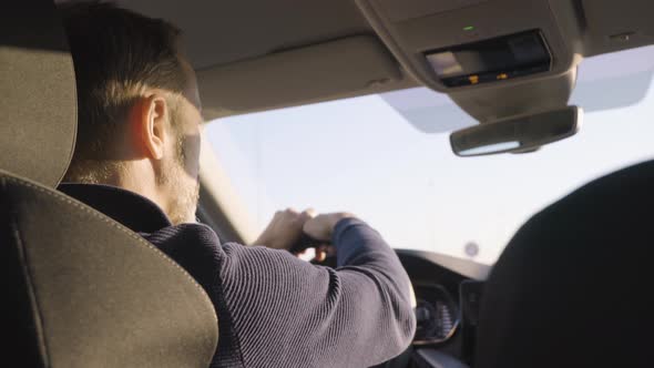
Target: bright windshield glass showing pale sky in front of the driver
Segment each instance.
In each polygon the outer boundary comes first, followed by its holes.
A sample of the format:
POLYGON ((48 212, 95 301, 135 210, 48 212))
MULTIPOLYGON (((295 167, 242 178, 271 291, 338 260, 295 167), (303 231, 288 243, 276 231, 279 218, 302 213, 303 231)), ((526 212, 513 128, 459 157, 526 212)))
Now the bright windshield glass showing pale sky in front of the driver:
POLYGON ((654 157, 654 48, 590 58, 571 99, 575 136, 535 153, 461 159, 449 132, 474 124, 425 88, 219 119, 213 150, 263 229, 285 207, 349 211, 396 248, 492 264, 534 213, 654 157))

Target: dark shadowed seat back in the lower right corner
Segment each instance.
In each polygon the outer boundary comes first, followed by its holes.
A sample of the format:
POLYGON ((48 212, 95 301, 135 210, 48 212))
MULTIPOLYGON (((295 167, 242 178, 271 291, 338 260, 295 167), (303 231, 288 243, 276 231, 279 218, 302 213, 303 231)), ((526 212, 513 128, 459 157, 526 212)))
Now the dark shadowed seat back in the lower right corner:
POLYGON ((493 267, 476 367, 652 367, 654 162, 533 216, 493 267))

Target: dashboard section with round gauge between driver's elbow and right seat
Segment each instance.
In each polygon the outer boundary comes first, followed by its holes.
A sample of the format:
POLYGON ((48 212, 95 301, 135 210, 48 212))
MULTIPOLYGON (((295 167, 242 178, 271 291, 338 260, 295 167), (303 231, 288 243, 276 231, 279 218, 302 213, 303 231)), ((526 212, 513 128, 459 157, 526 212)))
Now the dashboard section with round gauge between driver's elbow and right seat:
POLYGON ((491 267, 430 252, 396 253, 413 285, 417 328, 403 360, 380 367, 472 366, 479 303, 491 267))

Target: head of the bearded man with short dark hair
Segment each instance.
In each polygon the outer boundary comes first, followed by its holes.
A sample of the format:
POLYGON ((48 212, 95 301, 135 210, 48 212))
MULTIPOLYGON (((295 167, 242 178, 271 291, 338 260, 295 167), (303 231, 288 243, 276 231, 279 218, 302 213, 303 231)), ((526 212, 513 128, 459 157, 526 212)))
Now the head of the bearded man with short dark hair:
POLYGON ((159 204, 173 223, 193 221, 202 115, 180 30, 108 3, 60 10, 79 100, 64 180, 121 186, 159 204))

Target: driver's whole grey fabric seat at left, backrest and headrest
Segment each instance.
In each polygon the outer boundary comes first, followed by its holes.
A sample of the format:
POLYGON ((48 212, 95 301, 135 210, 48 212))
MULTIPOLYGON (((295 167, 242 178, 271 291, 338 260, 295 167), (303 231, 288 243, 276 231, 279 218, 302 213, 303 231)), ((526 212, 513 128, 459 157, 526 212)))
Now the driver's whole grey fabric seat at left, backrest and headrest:
POLYGON ((54 190, 76 131, 73 64, 54 4, 1 8, 3 361, 208 366, 218 324, 202 287, 137 234, 54 190))

